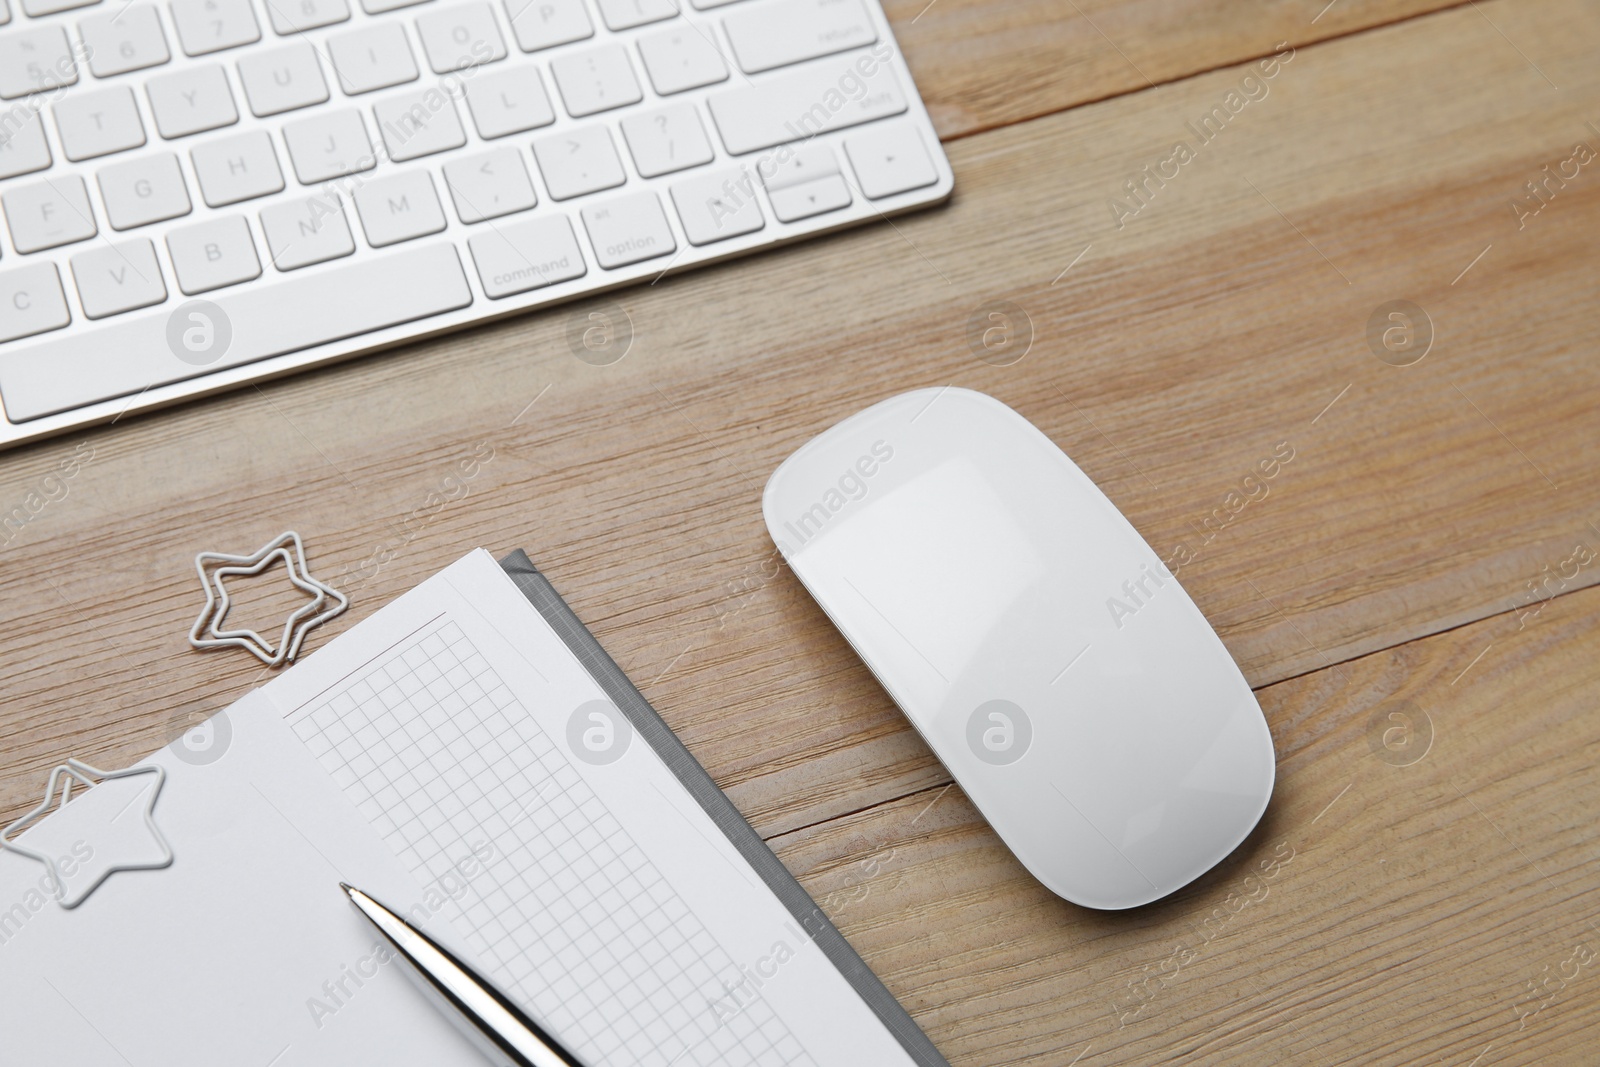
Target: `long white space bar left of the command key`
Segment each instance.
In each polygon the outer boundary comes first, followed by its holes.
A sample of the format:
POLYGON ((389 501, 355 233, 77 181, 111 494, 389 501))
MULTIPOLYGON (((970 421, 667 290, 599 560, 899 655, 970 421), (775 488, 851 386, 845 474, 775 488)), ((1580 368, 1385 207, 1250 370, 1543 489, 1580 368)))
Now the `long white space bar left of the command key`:
POLYGON ((232 323, 232 344, 195 366, 166 347, 166 315, 117 318, 94 330, 0 347, 0 395, 13 422, 131 397, 272 355, 310 349, 472 304, 461 258, 448 243, 411 245, 301 277, 274 277, 211 298, 232 323), (285 315, 285 309, 294 314, 285 315))

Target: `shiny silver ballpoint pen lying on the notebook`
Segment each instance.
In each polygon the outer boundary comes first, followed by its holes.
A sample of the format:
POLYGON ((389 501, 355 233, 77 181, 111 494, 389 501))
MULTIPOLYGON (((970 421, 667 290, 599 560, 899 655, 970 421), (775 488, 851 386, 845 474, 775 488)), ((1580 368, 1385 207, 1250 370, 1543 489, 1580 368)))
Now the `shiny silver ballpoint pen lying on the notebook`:
POLYGON ((341 881, 339 888, 389 941, 411 981, 490 1061, 510 1067, 584 1067, 506 993, 448 949, 355 886, 341 881))

